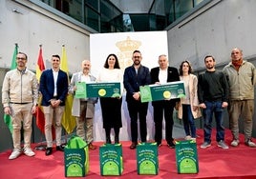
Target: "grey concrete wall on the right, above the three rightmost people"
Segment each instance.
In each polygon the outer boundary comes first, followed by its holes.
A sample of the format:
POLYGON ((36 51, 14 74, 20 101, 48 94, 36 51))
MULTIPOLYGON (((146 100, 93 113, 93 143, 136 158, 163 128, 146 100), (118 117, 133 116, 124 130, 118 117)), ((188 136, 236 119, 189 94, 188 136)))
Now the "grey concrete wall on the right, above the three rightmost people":
POLYGON ((179 67, 187 59, 195 70, 204 68, 206 54, 227 63, 234 47, 244 50, 244 57, 255 56, 255 17, 255 0, 211 1, 168 30, 171 65, 179 67))

